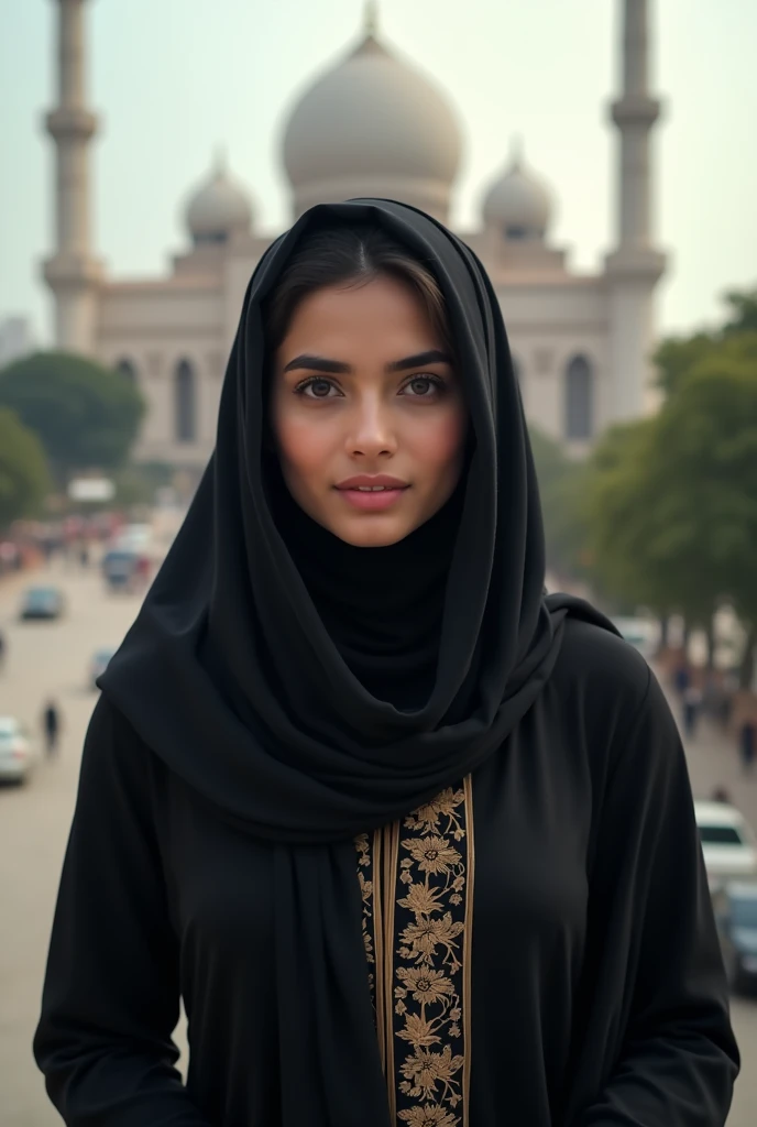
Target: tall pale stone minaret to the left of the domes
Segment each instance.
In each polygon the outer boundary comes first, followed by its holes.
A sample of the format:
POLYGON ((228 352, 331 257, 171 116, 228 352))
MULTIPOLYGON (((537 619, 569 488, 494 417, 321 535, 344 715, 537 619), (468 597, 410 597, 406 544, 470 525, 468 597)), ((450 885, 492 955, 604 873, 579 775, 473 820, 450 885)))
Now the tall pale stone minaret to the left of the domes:
POLYGON ((45 125, 55 143, 55 252, 44 275, 55 296, 59 348, 91 354, 95 348, 100 263, 89 241, 89 143, 97 118, 84 105, 84 3, 53 0, 57 6, 59 104, 45 125))

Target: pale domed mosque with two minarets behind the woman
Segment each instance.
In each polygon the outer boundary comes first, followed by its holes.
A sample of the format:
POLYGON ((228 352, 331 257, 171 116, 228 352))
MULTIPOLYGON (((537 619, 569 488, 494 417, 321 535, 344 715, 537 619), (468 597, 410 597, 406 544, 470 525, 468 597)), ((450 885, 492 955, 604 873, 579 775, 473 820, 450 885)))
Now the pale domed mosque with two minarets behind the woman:
MULTIPOLYGON (((653 406, 654 287, 665 258, 652 243, 648 0, 623 3, 615 246, 604 268, 571 273, 550 241, 552 193, 518 152, 482 196, 480 224, 461 237, 484 263, 505 313, 525 408, 576 454, 609 423, 653 406)), ((90 242, 89 145, 97 118, 84 95, 84 3, 56 0, 59 105, 56 248, 44 266, 61 348, 117 366, 149 408, 144 461, 198 470, 215 440, 226 356, 250 274, 270 238, 256 232, 247 189, 219 161, 186 208, 188 246, 152 281, 110 277, 90 242)), ((461 131, 444 94, 379 35, 373 5, 360 42, 319 74, 284 136, 292 218, 351 196, 406 201, 447 222, 461 131)))

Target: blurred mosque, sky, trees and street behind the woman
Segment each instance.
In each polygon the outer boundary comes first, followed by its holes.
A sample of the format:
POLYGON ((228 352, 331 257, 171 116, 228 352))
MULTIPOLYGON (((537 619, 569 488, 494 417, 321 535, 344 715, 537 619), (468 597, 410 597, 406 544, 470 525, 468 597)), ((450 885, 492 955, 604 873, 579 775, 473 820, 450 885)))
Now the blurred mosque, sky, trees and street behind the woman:
MULTIPOLYGON (((214 443, 265 248, 379 195, 481 257, 549 585, 684 737, 757 1118, 754 0, 0 6, 0 1122, 30 1038, 95 678, 214 443)), ((95 891, 93 891, 95 894, 95 891)))

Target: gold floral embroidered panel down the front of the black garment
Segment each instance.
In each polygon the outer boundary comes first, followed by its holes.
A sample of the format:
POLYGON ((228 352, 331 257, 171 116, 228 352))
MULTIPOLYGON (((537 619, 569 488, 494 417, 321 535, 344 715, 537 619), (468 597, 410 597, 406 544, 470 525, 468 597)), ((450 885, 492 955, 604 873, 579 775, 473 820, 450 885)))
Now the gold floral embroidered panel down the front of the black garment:
POLYGON ((469 1127, 470 777, 356 838, 368 983, 393 1127, 469 1127))

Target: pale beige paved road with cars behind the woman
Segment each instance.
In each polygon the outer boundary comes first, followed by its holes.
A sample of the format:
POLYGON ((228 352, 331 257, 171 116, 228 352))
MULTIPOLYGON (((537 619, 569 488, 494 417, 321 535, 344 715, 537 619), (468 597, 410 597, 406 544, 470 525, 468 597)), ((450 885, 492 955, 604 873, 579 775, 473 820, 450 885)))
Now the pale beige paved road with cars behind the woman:
MULTIPOLYGON (((26 789, 0 788, 0 1127, 55 1127, 30 1055, 46 944, 75 795, 81 742, 95 696, 87 662, 99 646, 116 644, 132 621, 136 600, 107 596, 93 576, 56 576, 70 597, 60 624, 12 622, 20 584, 0 584, 0 623, 9 660, 0 673, 0 713, 36 720, 47 694, 60 701, 65 729, 61 756, 45 764, 26 789)), ((706 796, 722 783, 757 825, 757 782, 743 782, 734 753, 703 729, 688 748, 694 787, 706 796)), ((757 1121, 757 1000, 738 1000, 733 1017, 745 1057, 729 1127, 757 1121)))

